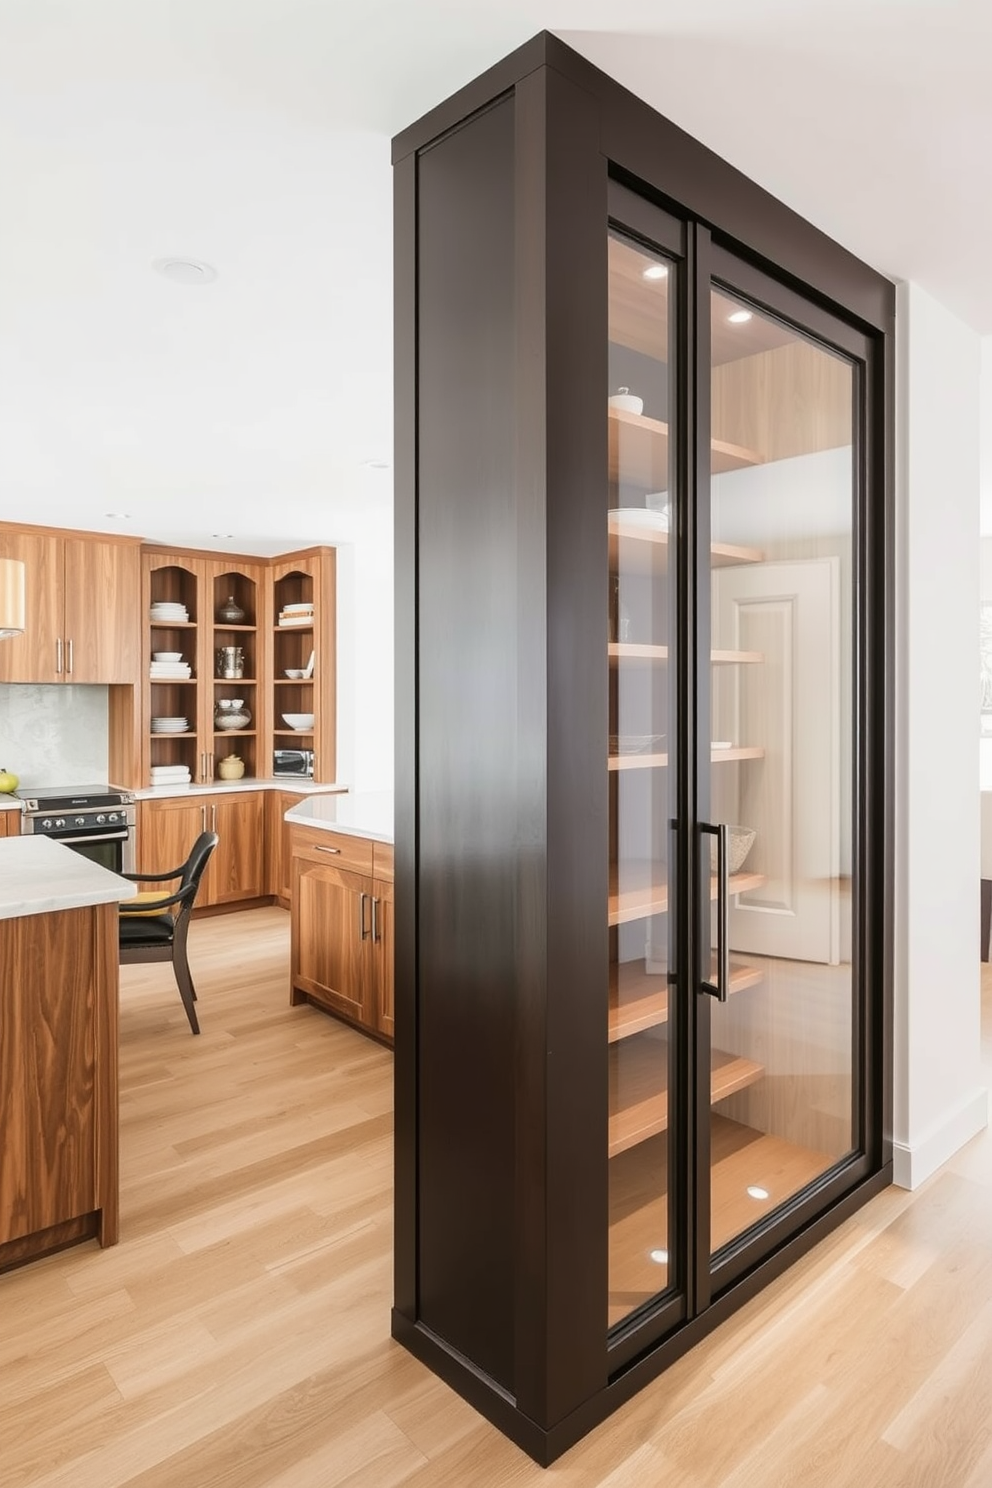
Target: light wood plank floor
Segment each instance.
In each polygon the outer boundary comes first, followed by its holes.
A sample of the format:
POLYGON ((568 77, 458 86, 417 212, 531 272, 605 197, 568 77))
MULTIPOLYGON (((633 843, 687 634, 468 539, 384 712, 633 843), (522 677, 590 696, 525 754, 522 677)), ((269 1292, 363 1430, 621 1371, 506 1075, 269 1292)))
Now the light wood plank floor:
POLYGON ((543 1473, 388 1336, 391 1056, 289 1007, 281 911, 190 945, 199 1039, 122 973, 122 1242, 0 1277, 3 1488, 992 1485, 988 1132, 543 1473))

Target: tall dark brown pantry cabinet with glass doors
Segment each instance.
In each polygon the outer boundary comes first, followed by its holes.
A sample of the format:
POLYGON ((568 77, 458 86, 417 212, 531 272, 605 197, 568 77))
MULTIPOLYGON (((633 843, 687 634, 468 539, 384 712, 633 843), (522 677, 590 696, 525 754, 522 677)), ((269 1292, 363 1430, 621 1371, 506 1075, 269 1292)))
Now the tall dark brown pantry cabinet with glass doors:
POLYGON ((393 1333, 547 1463, 889 1181, 894 290, 546 34, 394 164, 393 1333))

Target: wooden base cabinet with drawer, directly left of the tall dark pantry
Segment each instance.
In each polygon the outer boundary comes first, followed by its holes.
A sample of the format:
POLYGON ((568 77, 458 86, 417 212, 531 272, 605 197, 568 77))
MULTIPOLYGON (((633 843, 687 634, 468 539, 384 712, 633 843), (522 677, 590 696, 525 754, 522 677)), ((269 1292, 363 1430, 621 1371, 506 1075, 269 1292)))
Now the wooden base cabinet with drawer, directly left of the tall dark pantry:
POLYGON ((393 848, 296 826, 290 842, 290 1001, 391 1043, 393 848))

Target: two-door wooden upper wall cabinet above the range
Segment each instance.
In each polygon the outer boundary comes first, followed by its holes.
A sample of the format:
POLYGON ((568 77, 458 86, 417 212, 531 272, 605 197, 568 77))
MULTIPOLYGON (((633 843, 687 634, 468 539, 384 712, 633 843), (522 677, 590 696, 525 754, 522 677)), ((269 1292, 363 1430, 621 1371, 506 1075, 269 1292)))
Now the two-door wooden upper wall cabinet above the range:
POLYGON ((0 682, 129 683, 140 676, 135 539, 0 524, 0 557, 25 568, 24 635, 0 649, 0 682))

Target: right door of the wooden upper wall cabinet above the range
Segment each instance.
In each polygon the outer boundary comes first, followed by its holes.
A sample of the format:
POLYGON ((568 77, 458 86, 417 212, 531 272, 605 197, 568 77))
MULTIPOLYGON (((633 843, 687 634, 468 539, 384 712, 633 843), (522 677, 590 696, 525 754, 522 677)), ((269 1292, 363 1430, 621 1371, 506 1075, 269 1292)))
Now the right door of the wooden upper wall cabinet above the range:
POLYGON ((64 562, 65 680, 137 684, 143 628, 138 546, 67 537, 64 562))

